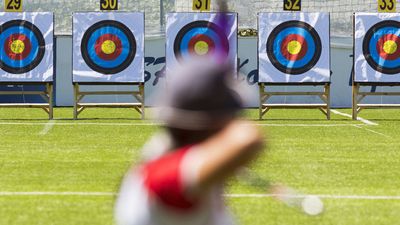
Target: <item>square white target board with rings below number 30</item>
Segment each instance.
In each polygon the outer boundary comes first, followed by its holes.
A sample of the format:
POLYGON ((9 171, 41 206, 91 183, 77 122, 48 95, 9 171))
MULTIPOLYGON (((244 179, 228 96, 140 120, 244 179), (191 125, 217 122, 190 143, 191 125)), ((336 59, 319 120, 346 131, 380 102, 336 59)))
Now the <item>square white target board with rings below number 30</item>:
POLYGON ((74 13, 73 82, 144 81, 143 13, 74 13))

